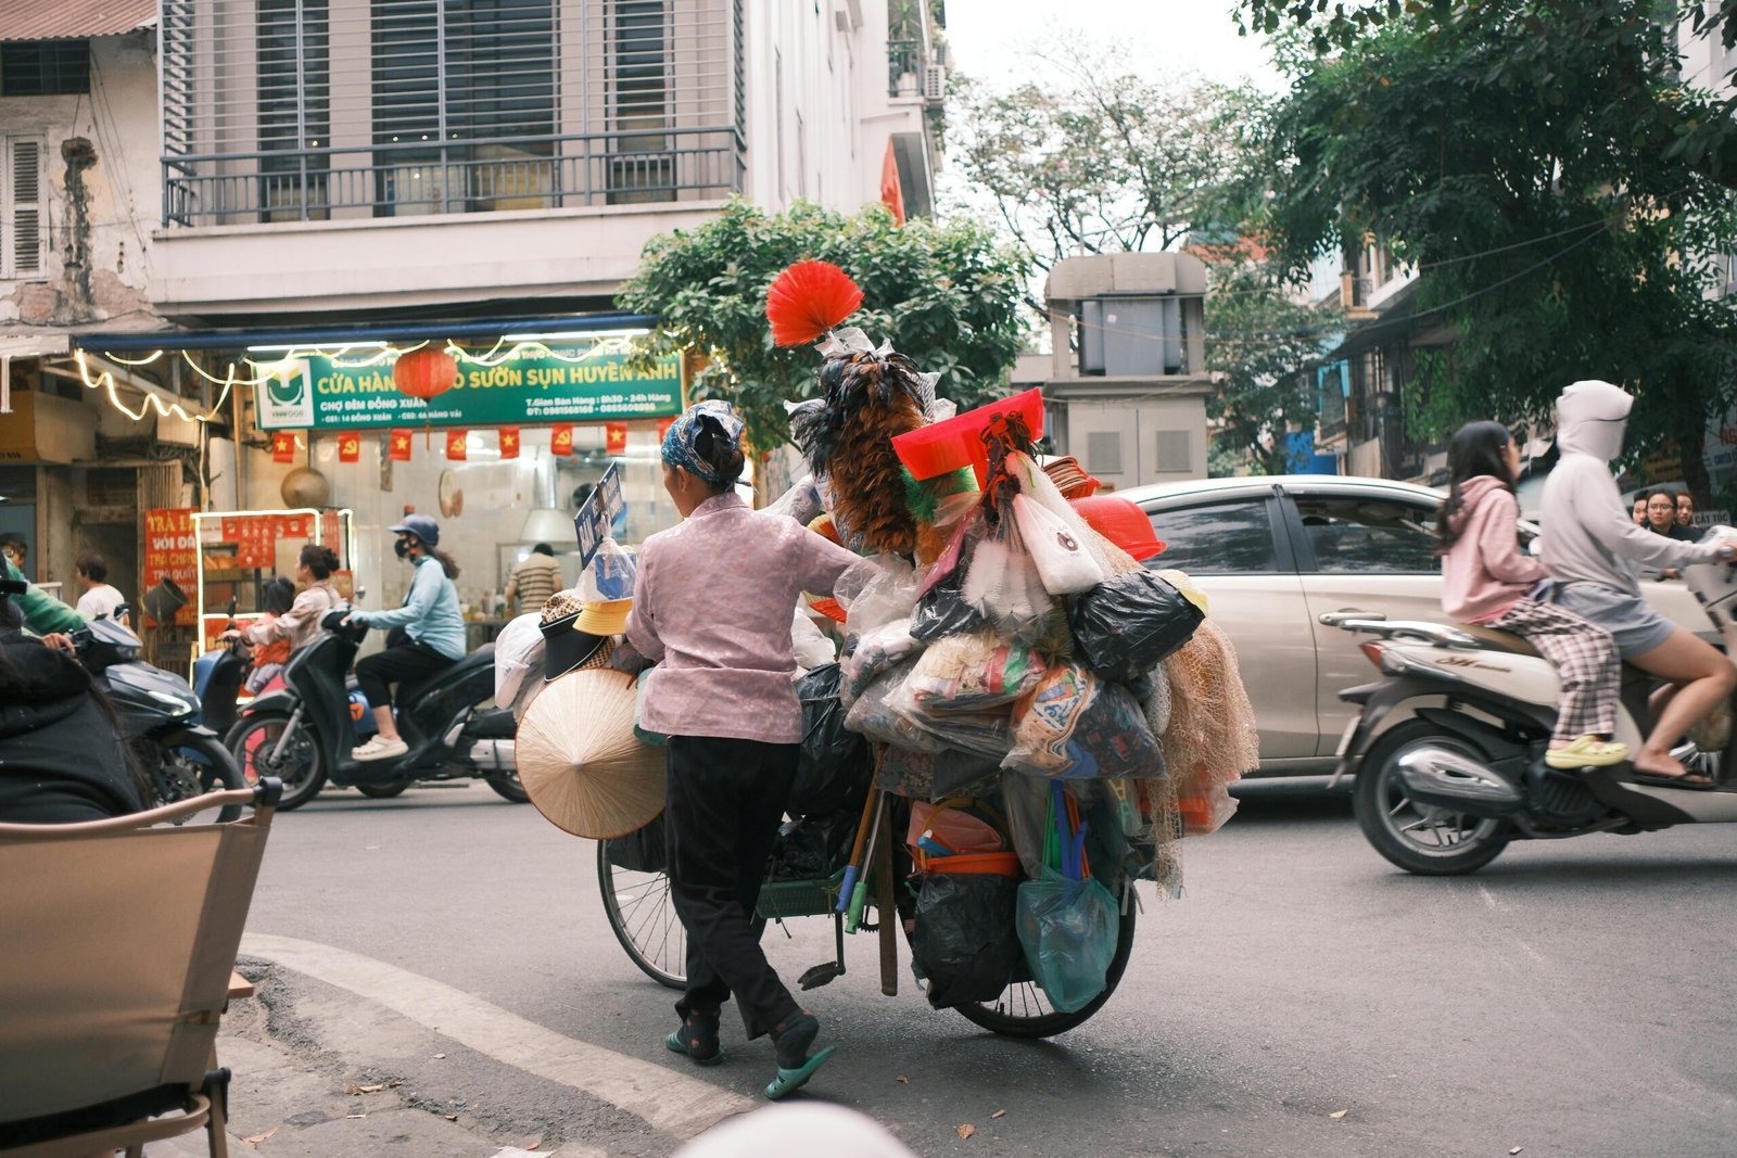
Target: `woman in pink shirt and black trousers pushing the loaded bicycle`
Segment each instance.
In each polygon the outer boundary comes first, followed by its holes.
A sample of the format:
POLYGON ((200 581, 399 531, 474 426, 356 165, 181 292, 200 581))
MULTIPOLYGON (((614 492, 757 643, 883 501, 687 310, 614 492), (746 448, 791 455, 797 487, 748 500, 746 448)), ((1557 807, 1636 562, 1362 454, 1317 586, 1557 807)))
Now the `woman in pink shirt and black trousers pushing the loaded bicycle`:
POLYGON ((742 420, 728 403, 690 406, 662 457, 683 523, 639 552, 627 644, 657 663, 639 724, 669 736, 669 882, 688 931, 681 1028, 664 1043, 702 1066, 721 1061, 719 1016, 735 995, 749 1038, 773 1038, 776 1101, 832 1054, 809 1054, 820 1023, 752 927, 802 740, 790 611, 802 592, 832 594, 856 556, 742 502, 742 420))

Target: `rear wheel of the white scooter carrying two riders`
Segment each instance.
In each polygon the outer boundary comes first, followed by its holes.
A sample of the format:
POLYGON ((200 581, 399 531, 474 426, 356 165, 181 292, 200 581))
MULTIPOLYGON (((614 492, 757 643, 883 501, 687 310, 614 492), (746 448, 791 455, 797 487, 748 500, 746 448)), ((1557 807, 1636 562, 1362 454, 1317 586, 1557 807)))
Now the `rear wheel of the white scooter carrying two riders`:
POLYGON ((1376 852, 1419 877, 1459 877, 1494 861, 1508 847, 1508 821, 1466 816, 1405 795, 1398 759, 1410 748, 1433 745, 1489 759, 1470 741, 1430 720, 1405 720, 1381 736, 1357 769, 1351 797, 1357 825, 1376 852))

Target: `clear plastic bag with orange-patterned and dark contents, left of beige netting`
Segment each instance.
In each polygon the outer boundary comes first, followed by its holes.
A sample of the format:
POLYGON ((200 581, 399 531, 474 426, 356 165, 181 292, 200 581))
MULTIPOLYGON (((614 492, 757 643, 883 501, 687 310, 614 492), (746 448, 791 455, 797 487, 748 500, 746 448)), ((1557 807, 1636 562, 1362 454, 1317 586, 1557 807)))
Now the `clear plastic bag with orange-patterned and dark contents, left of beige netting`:
POLYGON ((1073 780, 1162 776, 1164 755, 1127 688, 1065 663, 1020 701, 1002 766, 1073 780))

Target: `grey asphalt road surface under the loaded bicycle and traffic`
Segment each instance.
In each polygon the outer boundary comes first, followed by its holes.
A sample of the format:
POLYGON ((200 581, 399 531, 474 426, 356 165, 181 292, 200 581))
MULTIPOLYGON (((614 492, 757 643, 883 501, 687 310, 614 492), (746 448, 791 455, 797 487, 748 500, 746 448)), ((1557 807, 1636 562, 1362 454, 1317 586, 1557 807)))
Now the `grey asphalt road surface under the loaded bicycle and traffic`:
MULTIPOLYGON (((1183 899, 1141 885, 1120 990, 1051 1042, 983 1033, 908 984, 882 997, 874 938, 851 939, 849 974, 809 995, 839 1043, 813 1097, 919 1155, 1728 1155, 1734 835, 1516 844, 1430 880, 1379 859, 1320 781, 1251 785, 1225 830, 1188 842, 1183 899)), ((740 1023, 716 1069, 662 1047, 674 995, 615 944, 594 858, 481 785, 327 793, 278 818, 248 929, 756 1097, 769 1049, 740 1023)), ((766 938, 787 981, 832 951, 823 920, 790 932, 766 938)), ((365 1052, 367 1033, 351 1026, 347 1047, 365 1052)), ((629 1115, 478 1064, 466 1113, 497 1135, 672 1149, 629 1115)))

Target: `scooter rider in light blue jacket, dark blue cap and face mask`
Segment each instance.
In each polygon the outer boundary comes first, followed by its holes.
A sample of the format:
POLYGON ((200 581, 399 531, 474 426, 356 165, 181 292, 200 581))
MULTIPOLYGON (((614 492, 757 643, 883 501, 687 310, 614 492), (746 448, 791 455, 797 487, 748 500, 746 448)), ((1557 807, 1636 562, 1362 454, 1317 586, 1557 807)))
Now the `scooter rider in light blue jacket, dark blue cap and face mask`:
POLYGON ((459 564, 439 550, 439 524, 426 514, 412 514, 389 530, 398 535, 393 543, 398 557, 415 566, 410 594, 401 608, 351 611, 344 622, 387 630, 401 627, 406 639, 356 663, 356 682, 368 696, 380 729, 368 743, 351 750, 356 760, 389 760, 410 750, 393 719, 393 684, 433 675, 464 658, 464 615, 459 611, 459 589, 452 585, 459 578, 459 564))

